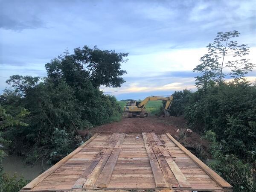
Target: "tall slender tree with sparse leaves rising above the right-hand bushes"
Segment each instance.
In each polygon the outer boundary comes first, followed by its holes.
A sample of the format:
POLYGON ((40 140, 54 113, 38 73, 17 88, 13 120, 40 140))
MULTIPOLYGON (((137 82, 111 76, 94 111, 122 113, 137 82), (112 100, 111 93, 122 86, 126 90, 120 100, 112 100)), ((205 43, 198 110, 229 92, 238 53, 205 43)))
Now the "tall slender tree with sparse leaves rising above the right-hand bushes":
POLYGON ((239 45, 237 41, 233 41, 233 38, 237 38, 239 35, 238 31, 217 33, 213 43, 207 46, 208 54, 201 57, 201 64, 193 69, 193 72, 201 73, 195 77, 197 87, 207 87, 219 83, 227 76, 240 79, 253 70, 255 64, 245 58, 249 54, 248 45, 239 45), (228 56, 233 58, 227 60, 228 56))

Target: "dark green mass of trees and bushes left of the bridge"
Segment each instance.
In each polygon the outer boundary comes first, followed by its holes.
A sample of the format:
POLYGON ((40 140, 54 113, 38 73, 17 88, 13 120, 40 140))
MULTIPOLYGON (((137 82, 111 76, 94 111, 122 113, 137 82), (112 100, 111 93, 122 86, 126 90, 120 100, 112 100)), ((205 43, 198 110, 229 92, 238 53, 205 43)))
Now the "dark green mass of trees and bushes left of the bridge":
POLYGON ((54 163, 83 142, 78 130, 118 121, 121 108, 99 85, 119 87, 126 73, 120 65, 128 54, 83 47, 45 65, 47 77, 11 76, 0 105, 11 115, 29 110, 28 125, 3 130, 9 151, 24 155, 27 163, 46 159, 54 163))

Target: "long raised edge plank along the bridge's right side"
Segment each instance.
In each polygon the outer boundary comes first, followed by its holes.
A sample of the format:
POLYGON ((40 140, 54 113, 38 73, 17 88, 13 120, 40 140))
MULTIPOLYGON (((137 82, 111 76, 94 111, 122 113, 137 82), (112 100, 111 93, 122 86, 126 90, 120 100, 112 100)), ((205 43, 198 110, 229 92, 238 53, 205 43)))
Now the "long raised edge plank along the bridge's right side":
POLYGON ((181 145, 179 142, 177 142, 169 133, 166 133, 166 135, 172 140, 173 143, 175 143, 186 155, 188 155, 201 169, 204 169, 204 171, 212 177, 212 179, 218 183, 223 188, 233 188, 227 181, 225 181, 221 176, 219 176, 216 172, 214 172, 212 169, 210 169, 206 164, 204 164, 201 160, 199 160, 194 154, 192 154, 189 150, 187 150, 183 145, 181 145))

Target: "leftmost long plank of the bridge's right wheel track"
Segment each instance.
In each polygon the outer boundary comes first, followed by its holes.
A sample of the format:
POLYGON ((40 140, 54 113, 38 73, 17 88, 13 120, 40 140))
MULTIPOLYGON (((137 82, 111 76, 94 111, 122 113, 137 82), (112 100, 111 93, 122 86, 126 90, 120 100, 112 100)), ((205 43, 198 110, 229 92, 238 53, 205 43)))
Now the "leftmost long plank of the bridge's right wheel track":
POLYGON ((169 187, 169 184, 166 182, 166 179, 163 175, 163 172, 160 168, 160 165, 159 165, 159 163, 158 163, 158 161, 157 161, 157 159, 154 155, 154 151, 151 148, 151 142, 148 139, 147 134, 142 133, 142 135, 143 135, 145 148, 146 148, 146 151, 147 151, 147 154, 148 154, 148 159, 149 159, 149 162, 151 164, 151 169, 152 169, 152 172, 154 174, 154 180, 155 180, 156 186, 157 187, 169 187))

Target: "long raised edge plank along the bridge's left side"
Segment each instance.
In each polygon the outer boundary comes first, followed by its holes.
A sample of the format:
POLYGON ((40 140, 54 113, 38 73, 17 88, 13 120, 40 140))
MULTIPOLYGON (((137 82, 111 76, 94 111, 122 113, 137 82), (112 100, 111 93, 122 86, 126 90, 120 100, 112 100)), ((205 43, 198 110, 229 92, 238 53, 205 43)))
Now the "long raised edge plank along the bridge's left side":
POLYGON ((91 137, 89 140, 87 140, 84 144, 82 144, 79 148, 76 148, 76 150, 72 151, 70 154, 68 154, 66 157, 64 157, 62 160, 60 160, 58 163, 56 163, 51 168, 47 169, 44 173, 36 177, 34 180, 32 180, 30 183, 28 183, 26 186, 24 186, 22 189, 29 190, 32 189, 34 186, 36 186, 38 183, 40 183, 42 180, 44 180, 46 177, 48 177, 51 173, 53 173, 56 169, 58 169, 60 166, 62 166, 64 163, 67 162, 70 158, 72 158, 75 154, 77 154, 79 151, 81 151, 84 146, 86 146, 88 143, 93 141, 95 137, 97 137, 99 133, 96 133, 91 137))

